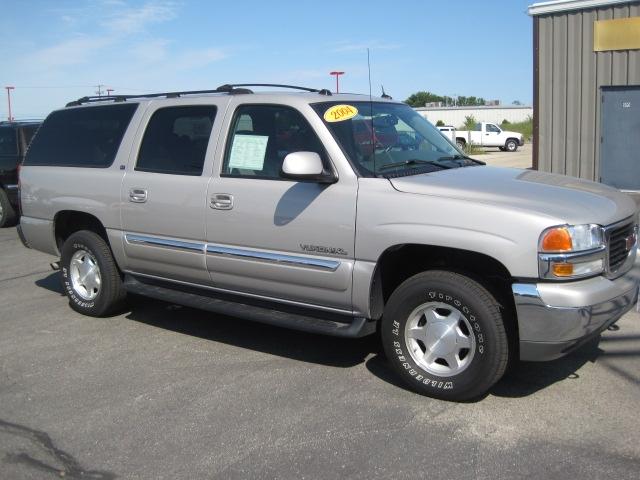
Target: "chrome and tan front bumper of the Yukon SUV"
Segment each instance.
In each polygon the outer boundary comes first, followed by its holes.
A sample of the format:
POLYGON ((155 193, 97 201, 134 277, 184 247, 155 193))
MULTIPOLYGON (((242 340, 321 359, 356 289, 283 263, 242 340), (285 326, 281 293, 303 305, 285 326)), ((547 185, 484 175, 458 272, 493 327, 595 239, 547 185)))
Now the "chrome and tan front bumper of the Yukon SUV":
POLYGON ((636 305, 639 275, 513 284, 520 359, 553 360, 597 336, 636 305))

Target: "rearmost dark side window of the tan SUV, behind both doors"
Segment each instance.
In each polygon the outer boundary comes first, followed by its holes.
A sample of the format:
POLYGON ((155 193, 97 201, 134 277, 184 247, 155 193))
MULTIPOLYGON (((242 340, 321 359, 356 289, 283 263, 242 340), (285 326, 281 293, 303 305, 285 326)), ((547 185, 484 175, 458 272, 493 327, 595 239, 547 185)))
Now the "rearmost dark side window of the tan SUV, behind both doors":
POLYGON ((105 168, 113 163, 137 104, 53 112, 29 147, 25 165, 105 168))

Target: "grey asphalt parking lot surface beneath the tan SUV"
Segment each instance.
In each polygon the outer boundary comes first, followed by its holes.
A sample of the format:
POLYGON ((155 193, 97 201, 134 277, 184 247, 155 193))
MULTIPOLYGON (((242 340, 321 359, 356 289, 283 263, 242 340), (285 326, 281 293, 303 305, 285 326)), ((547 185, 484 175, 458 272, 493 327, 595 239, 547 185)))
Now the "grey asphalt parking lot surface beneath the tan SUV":
POLYGON ((52 260, 0 230, 0 478, 638 478, 635 311, 448 403, 396 384, 375 338, 139 298, 83 317, 52 260))

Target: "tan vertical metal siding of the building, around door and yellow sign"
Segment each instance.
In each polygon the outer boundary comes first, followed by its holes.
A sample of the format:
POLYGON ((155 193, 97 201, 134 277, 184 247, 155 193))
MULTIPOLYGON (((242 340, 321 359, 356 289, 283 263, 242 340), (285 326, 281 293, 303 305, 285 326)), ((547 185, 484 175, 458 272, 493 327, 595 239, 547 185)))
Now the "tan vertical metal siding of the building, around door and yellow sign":
POLYGON ((640 50, 593 51, 595 20, 640 16, 640 2, 538 17, 538 168, 598 180, 600 87, 640 85, 640 50))

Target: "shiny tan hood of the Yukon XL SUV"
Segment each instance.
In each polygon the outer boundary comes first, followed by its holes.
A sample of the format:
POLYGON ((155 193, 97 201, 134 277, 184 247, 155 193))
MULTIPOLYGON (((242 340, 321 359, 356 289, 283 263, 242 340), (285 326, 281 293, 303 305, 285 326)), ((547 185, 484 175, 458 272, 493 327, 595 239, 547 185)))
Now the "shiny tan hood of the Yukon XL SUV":
POLYGON ((517 208, 552 218, 554 224, 610 225, 637 212, 635 201, 615 188, 535 170, 465 167, 390 182, 400 192, 517 208))

